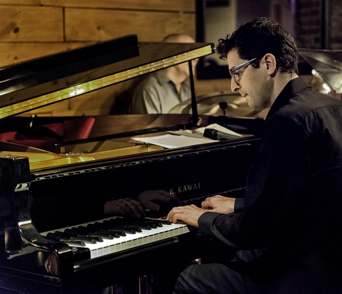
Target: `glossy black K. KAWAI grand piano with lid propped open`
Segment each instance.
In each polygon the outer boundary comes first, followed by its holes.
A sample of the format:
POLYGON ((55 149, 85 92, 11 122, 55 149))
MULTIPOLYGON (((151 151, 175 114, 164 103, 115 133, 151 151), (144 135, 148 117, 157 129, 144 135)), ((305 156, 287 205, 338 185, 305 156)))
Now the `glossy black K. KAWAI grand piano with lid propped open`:
POLYGON ((191 60, 212 52, 207 43, 127 36, 0 69, 1 293, 90 293, 126 281, 133 290, 125 293, 143 293, 138 277, 201 257, 206 243, 197 229, 159 217, 215 194, 244 197, 263 126, 198 115, 191 60), (183 62, 191 114, 25 116, 183 62), (171 149, 131 139, 211 123, 242 137, 171 149), (149 191, 177 201, 140 218, 104 214, 107 201, 149 191))

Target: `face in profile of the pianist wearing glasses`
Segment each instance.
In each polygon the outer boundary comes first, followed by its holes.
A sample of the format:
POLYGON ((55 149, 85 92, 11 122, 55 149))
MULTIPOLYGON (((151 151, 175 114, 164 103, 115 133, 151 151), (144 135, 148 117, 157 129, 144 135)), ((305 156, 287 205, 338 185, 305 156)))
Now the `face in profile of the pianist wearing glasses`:
MULTIPOLYGON (((229 69, 238 66, 244 62, 235 49, 227 54, 227 61, 229 69)), ((260 67, 254 68, 251 64, 238 69, 235 73, 235 79, 232 77, 231 90, 239 92, 241 96, 245 97, 248 105, 252 109, 265 109, 269 107, 271 101, 271 90, 266 83, 267 75, 263 68, 263 62, 260 61, 260 67)))

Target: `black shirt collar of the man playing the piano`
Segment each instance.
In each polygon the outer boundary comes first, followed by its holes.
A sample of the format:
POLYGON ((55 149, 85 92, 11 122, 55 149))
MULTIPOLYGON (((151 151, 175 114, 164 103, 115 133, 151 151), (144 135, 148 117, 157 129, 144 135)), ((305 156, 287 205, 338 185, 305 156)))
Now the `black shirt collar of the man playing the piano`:
POLYGON ((304 89, 310 89, 311 86, 305 83, 300 78, 295 78, 290 80, 284 87, 284 89, 281 90, 275 101, 273 102, 271 108, 269 109, 265 122, 269 120, 269 118, 274 115, 281 107, 288 104, 289 100, 294 96, 294 94, 304 90, 304 89))

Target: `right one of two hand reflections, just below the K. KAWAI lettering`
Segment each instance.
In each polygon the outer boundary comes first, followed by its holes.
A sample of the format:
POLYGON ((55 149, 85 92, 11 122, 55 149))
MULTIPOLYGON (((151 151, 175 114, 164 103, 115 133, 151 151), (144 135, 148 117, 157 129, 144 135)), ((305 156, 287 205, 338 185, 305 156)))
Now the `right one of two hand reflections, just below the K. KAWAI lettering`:
POLYGON ((173 203, 174 206, 182 205, 180 199, 175 195, 170 195, 170 193, 164 190, 147 190, 141 192, 138 196, 138 200, 146 209, 150 210, 160 209, 160 205, 156 202, 173 203))

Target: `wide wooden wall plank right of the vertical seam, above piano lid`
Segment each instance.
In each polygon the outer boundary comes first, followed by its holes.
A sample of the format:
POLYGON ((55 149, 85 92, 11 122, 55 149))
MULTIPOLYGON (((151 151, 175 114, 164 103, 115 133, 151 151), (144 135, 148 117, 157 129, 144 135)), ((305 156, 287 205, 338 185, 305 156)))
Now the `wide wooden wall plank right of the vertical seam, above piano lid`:
POLYGON ((67 41, 108 40, 137 34, 139 41, 161 41, 174 33, 195 37, 195 14, 157 11, 65 9, 67 41))

